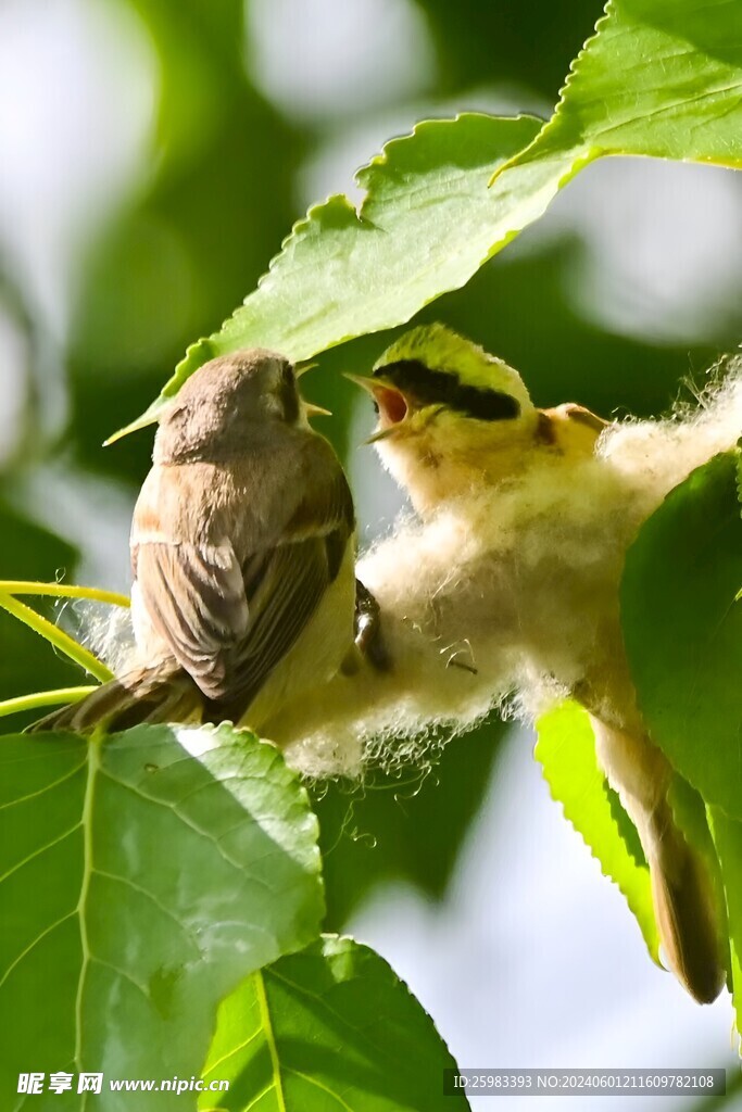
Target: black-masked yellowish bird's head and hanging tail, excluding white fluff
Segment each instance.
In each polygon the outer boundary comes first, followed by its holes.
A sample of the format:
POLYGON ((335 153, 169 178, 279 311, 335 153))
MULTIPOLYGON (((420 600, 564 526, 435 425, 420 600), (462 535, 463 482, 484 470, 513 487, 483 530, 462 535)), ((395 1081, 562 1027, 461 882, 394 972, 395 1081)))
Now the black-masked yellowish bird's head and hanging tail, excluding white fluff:
MULTIPOLYGON (((486 492, 491 512, 497 514, 498 493, 524 466, 594 457, 607 425, 574 404, 537 409, 517 371, 435 325, 403 336, 364 385, 378 409, 378 429, 370 439, 418 514, 436 514, 452 502, 458 502, 462 513, 471 498, 473 528, 486 492)), ((564 478, 575 478, 572 467, 564 478)), ((557 576, 551 583, 555 596, 557 576)), ((617 595, 606 602, 600 615, 603 651, 585 661, 583 675, 568 677, 570 694, 591 713, 598 761, 640 834, 667 962, 696 1000, 710 1002, 725 979, 713 887, 702 857, 673 817, 667 798, 672 768, 650 741, 636 708, 617 595)), ((585 620, 594 615, 593 604, 585 620)), ((496 623, 497 614, 489 618, 496 623)), ((553 620, 553 614, 544 613, 543 620, 553 620)))

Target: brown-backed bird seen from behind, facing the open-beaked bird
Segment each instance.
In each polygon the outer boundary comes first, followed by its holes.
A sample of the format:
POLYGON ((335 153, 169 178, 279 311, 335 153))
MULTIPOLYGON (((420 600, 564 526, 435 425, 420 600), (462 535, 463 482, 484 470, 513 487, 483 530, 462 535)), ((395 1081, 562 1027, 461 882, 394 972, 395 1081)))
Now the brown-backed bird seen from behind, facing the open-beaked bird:
POLYGON ((290 363, 212 359, 160 419, 131 527, 137 666, 32 728, 230 719, 259 729, 354 642, 355 520, 290 363))

